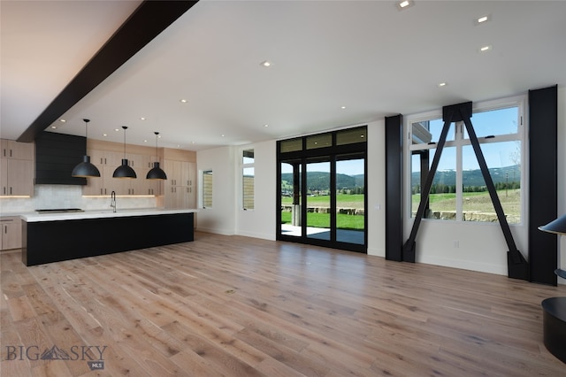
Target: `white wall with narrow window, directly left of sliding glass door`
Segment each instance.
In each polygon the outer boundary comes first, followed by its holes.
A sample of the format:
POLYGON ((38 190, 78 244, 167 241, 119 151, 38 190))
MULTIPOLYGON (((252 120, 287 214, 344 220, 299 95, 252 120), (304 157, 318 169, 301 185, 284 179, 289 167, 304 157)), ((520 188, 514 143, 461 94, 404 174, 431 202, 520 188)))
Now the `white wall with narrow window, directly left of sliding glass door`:
POLYGON ((236 201, 236 234, 275 240, 275 202, 277 196, 277 142, 256 142, 234 149, 235 191, 241 195, 241 150, 254 150, 254 209, 242 209, 236 201))

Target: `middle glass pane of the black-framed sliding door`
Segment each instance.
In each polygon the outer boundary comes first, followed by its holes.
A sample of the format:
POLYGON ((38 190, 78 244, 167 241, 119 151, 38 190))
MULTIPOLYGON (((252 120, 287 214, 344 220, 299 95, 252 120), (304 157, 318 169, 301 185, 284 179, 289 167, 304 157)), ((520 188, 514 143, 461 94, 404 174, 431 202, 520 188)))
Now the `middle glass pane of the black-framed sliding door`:
POLYGON ((307 237, 330 241, 330 158, 307 160, 307 237))

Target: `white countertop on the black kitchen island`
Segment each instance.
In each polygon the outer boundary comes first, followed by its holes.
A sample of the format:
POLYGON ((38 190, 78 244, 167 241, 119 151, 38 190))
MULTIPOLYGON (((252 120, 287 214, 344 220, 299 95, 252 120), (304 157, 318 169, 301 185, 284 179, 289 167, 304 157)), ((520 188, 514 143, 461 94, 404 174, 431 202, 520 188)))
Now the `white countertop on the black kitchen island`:
POLYGON ((103 211, 85 211, 85 212, 57 212, 57 213, 20 213, 21 219, 27 222, 42 222, 42 221, 62 221, 70 219, 104 219, 104 218, 119 218, 119 217, 132 217, 132 216, 151 216, 151 215, 166 215, 175 213, 192 213, 198 212, 196 209, 178 209, 178 210, 165 210, 159 208, 146 208, 139 210, 120 210, 112 212, 112 210, 103 211))

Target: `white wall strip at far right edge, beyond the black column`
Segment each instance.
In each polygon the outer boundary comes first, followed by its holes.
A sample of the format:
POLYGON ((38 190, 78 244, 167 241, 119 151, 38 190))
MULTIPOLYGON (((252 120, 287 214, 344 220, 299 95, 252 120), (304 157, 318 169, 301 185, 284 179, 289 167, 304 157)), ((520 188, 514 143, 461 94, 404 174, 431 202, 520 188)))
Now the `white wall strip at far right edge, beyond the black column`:
MULTIPOLYGON (((558 216, 566 214, 566 87, 558 88, 558 216)), ((558 266, 566 270, 566 235, 558 239, 558 266)), ((566 279, 558 278, 558 284, 566 279)))

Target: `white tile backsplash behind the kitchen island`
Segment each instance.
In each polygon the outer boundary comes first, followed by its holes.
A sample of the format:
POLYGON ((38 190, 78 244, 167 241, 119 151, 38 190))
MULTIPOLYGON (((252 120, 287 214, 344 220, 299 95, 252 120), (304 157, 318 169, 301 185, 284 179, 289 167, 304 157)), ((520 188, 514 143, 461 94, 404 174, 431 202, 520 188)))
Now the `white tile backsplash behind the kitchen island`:
MULTIPOLYGON (((119 209, 156 208, 156 196, 119 196, 119 209)), ((85 211, 110 208, 110 196, 84 197, 82 187, 73 185, 35 185, 29 198, 0 198, 0 212, 23 213, 37 209, 80 208, 85 211)))

